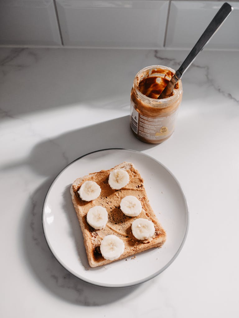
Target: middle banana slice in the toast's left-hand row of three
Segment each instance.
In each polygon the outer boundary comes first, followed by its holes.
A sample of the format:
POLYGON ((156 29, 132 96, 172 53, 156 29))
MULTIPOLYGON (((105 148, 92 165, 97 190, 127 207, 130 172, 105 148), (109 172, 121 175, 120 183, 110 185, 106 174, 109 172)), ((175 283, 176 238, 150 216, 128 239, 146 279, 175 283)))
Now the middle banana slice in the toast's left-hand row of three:
POLYGON ((86 220, 94 229, 101 230, 108 221, 108 213, 103 206, 96 205, 87 212, 86 220))

